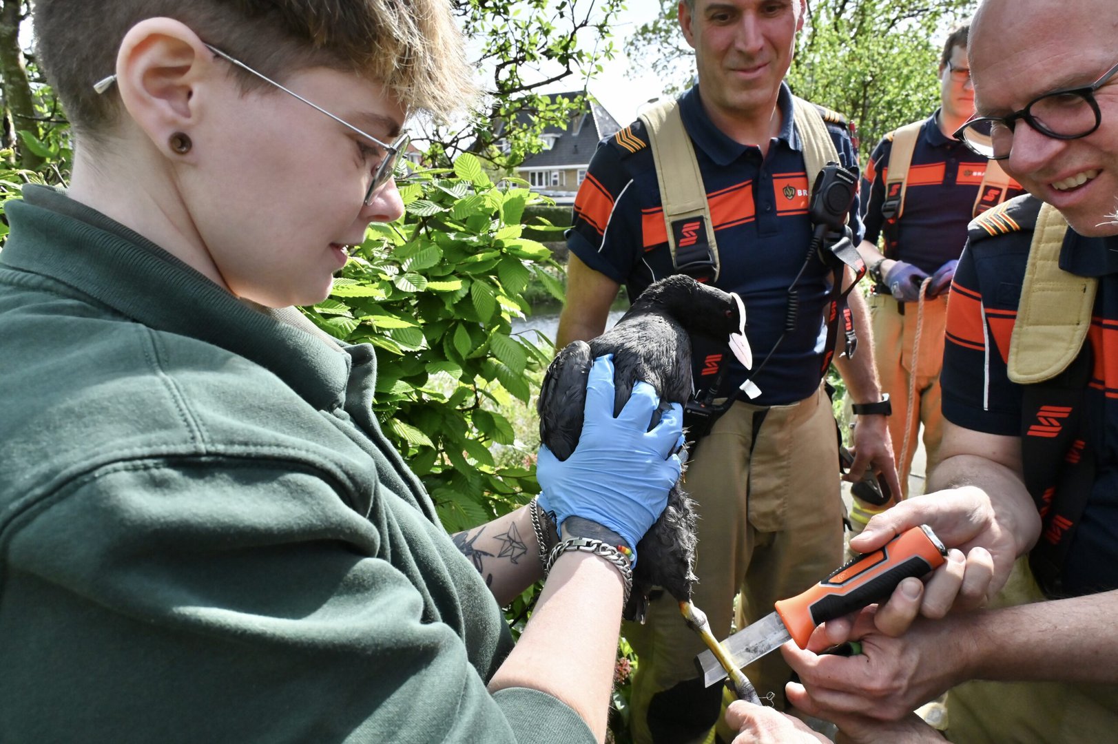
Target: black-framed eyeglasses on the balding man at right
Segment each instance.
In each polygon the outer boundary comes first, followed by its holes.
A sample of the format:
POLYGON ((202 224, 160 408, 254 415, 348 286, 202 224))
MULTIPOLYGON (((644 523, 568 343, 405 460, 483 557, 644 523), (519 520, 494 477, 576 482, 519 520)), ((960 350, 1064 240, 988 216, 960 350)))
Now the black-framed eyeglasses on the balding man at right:
POLYGON ((1090 85, 1045 93, 1008 116, 979 116, 955 131, 955 139, 984 158, 1005 160, 1013 148, 1013 130, 1024 120, 1034 130, 1055 140, 1078 140, 1102 123, 1095 92, 1118 74, 1118 65, 1090 85))

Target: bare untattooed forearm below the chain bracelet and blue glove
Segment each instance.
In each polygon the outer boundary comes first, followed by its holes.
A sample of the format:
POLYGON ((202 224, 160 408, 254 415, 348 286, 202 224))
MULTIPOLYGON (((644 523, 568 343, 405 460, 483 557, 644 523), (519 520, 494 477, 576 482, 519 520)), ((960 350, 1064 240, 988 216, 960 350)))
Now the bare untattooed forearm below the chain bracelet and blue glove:
POLYGON ((490 690, 529 687, 553 695, 603 741, 623 593, 620 574, 606 561, 588 553, 561 555, 490 690))

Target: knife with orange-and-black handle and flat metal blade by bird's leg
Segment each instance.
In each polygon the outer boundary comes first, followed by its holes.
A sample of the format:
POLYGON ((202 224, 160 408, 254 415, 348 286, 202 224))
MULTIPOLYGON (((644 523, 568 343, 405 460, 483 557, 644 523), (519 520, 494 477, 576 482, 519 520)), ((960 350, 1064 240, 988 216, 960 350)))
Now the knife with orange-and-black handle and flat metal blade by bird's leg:
MULTIPOLYGON (((942 565, 947 548, 927 525, 901 533, 873 553, 860 555, 830 576, 775 604, 775 611, 730 635, 722 642, 733 665, 740 669, 795 640, 799 648, 816 625, 879 602, 909 576, 923 576, 942 565)), ((695 657, 707 687, 727 677, 727 670, 711 651, 695 657)))

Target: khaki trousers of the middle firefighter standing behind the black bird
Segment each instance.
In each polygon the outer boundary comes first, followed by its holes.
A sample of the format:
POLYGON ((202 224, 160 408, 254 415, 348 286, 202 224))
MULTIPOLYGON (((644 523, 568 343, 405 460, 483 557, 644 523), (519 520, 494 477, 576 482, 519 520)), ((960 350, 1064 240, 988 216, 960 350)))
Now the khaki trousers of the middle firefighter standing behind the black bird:
MULTIPOLYGON (((834 571, 843 555, 843 508, 831 401, 822 387, 787 406, 736 402, 688 463, 685 488, 698 501, 694 602, 719 639, 730 632, 733 600, 748 620, 773 611, 834 571)), ((721 688, 702 688, 694 658, 705 649, 667 594, 644 625, 625 623, 637 652, 631 727, 635 742, 702 742, 718 721, 721 688)), ((748 667, 761 697, 784 706, 790 670, 779 652, 748 667)))

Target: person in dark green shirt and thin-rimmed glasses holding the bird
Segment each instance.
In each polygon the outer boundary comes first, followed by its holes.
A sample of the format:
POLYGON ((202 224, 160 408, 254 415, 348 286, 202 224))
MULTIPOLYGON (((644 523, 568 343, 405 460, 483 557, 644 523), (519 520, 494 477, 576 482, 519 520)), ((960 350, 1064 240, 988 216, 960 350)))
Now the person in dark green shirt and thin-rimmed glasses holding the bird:
POLYGON ((646 431, 638 384, 614 418, 595 362, 579 448, 540 454, 570 539, 514 647, 500 603, 553 527, 447 535, 372 415, 372 348, 292 308, 400 216, 408 114, 473 95, 449 4, 38 0, 34 25, 75 162, 4 205, 0 740, 601 741, 639 558, 615 546, 679 478, 679 406, 646 431))

